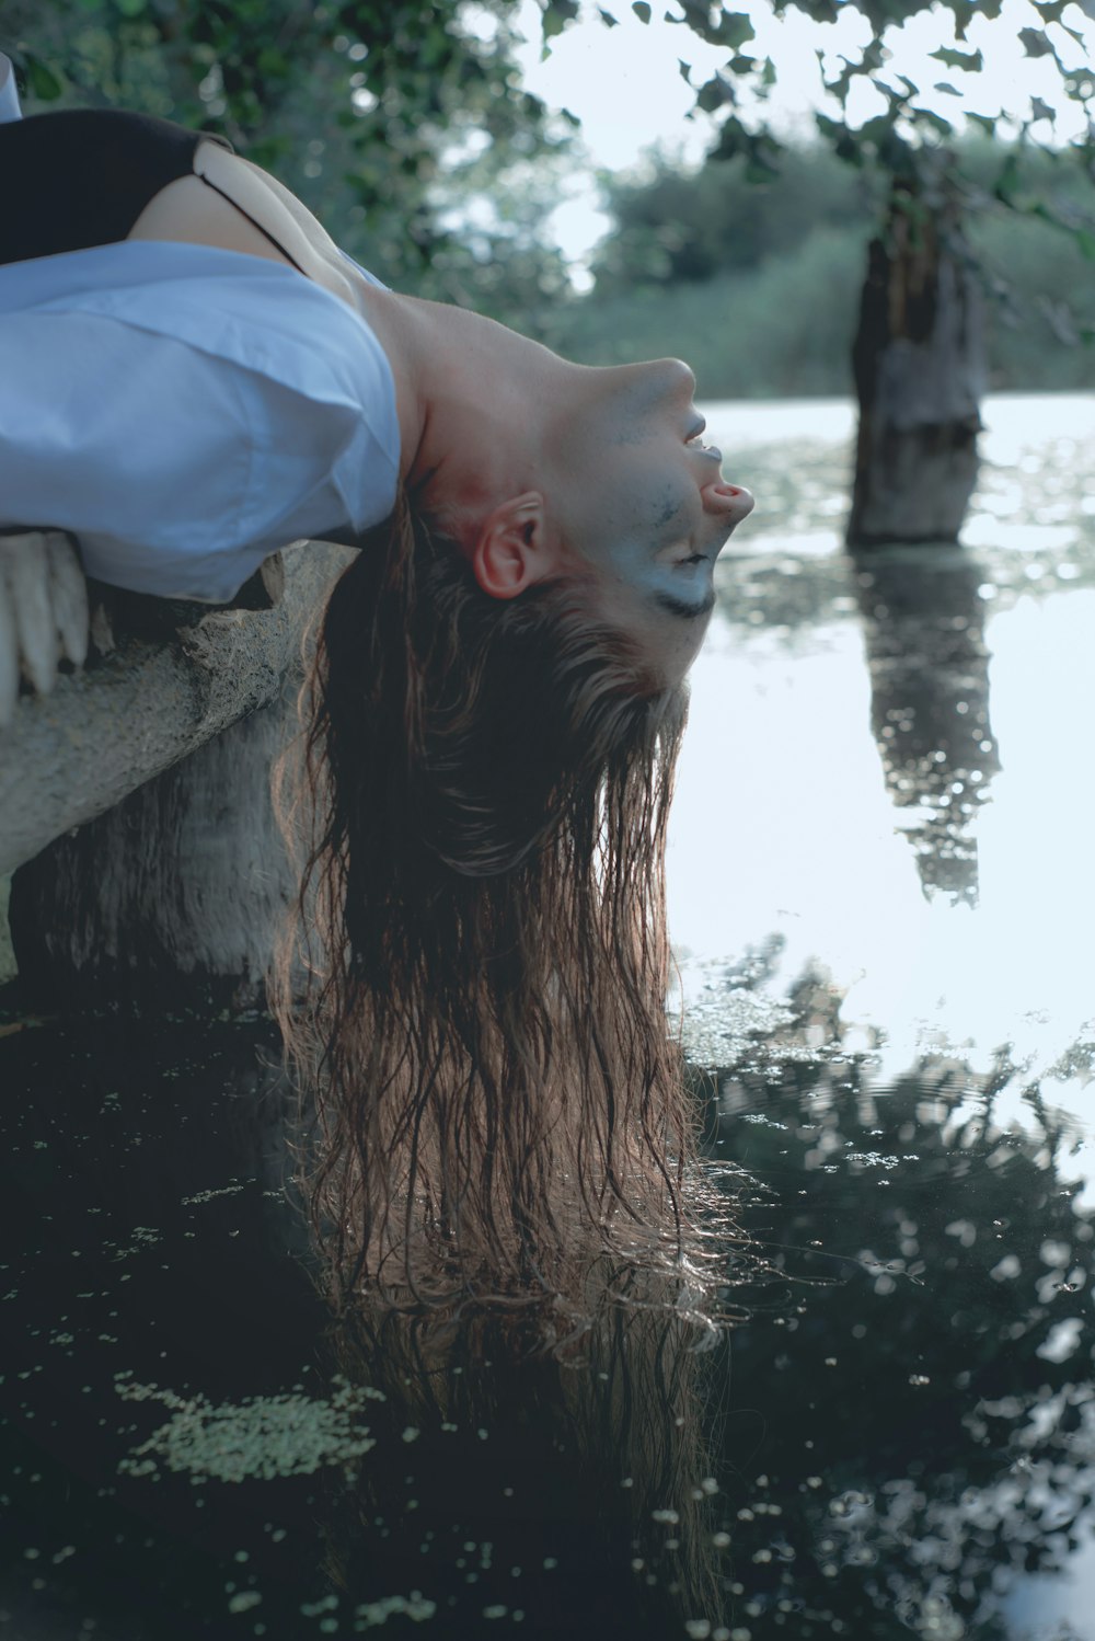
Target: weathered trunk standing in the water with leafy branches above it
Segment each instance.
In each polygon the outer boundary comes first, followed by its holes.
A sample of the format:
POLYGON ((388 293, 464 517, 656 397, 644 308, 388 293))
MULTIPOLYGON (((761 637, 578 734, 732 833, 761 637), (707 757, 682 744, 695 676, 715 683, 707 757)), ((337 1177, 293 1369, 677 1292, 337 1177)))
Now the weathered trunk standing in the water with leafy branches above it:
MULTIPOLYGON (((752 16, 710 0, 677 0, 677 7, 679 13, 666 13, 670 21, 729 53, 725 67, 697 87, 695 107, 718 120, 711 156, 743 156, 749 176, 770 176, 782 153, 764 118, 764 95, 775 69, 770 59, 746 51, 756 38, 752 16)), ((575 0, 544 0, 546 33, 572 23, 577 10, 575 0)), ((611 8, 598 10, 607 25, 618 21, 611 8)), ((952 75, 977 74, 984 59, 969 48, 967 30, 977 16, 1006 26, 1000 23, 1003 0, 944 0, 941 7, 926 0, 766 0, 764 10, 818 23, 856 13, 870 25, 869 44, 857 59, 843 59, 828 74, 821 66, 820 89, 836 98, 839 113, 816 117, 820 135, 841 159, 880 176, 885 197, 884 222, 869 246, 854 343, 861 422, 849 543, 954 540, 977 474, 985 381, 980 281, 966 231, 982 195, 956 159, 952 123, 925 103, 921 87, 888 74, 887 38, 921 13, 949 13, 952 38, 933 56, 952 75), (854 123, 851 94, 862 82, 882 94, 884 112, 854 123)), ((1090 0, 1084 10, 1095 15, 1090 0)), ((649 23, 647 3, 633 5, 633 11, 649 23)), ((1052 222, 1095 259, 1092 210, 1057 208, 1044 192, 1025 187, 1025 159, 1039 149, 1070 161, 1088 181, 1095 177, 1095 74, 1084 34, 1065 21, 1067 13, 1067 0, 1029 0, 1031 26, 1020 28, 1018 38, 1028 57, 1054 64, 1061 105, 1082 112, 1085 131, 1061 149, 1039 141, 1034 130, 1052 123, 1054 108, 1033 97, 992 197, 1010 210, 1052 222)), ((682 72, 687 77, 684 64, 682 72)), ((947 80, 934 89, 959 95, 947 80)), ((974 118, 990 133, 1000 120, 974 118)))

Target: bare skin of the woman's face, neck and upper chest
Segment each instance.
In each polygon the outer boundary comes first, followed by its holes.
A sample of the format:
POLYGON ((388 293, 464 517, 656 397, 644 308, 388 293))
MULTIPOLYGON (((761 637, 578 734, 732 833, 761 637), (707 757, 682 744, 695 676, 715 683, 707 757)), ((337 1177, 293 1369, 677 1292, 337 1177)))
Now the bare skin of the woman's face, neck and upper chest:
POLYGON ((156 195, 131 236, 285 263, 257 222, 292 245, 297 267, 377 331, 402 476, 484 591, 515 597, 548 576, 585 578, 597 615, 628 630, 667 681, 684 676, 707 632, 715 558, 752 507, 697 438, 688 366, 570 364, 480 315, 369 286, 274 177, 211 144, 197 169, 156 195))

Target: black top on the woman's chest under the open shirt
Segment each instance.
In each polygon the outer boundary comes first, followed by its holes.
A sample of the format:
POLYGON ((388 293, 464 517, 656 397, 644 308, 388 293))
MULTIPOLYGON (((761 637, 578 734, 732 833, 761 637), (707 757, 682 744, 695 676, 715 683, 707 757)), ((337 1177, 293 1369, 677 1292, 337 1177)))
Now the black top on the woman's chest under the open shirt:
POLYGON ((193 172, 210 131, 120 108, 0 123, 0 263, 125 240, 148 202, 193 172))

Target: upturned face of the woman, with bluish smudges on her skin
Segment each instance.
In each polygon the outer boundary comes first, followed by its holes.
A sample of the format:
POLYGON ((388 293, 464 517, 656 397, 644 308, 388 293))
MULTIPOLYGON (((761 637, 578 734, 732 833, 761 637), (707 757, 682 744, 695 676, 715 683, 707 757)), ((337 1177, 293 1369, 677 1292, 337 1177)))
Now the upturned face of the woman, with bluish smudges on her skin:
POLYGON ((569 551, 595 571, 598 614, 675 683, 708 627, 715 558, 752 497, 703 446, 695 376, 680 359, 575 369, 548 505, 569 551))

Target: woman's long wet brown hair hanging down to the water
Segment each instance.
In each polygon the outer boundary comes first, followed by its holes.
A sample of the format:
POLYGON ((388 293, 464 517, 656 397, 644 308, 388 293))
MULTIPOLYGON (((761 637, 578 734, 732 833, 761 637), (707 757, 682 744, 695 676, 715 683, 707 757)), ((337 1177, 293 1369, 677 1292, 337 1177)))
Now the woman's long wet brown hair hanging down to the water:
POLYGON ((695 1136, 664 1012, 685 720, 580 581, 497 601, 400 497, 333 589, 280 807, 274 986, 334 1296, 557 1296, 677 1264, 695 1136), (574 1236, 580 1229, 580 1236, 574 1236))

